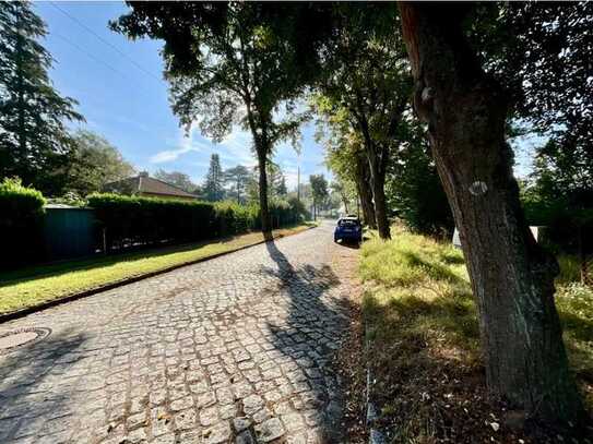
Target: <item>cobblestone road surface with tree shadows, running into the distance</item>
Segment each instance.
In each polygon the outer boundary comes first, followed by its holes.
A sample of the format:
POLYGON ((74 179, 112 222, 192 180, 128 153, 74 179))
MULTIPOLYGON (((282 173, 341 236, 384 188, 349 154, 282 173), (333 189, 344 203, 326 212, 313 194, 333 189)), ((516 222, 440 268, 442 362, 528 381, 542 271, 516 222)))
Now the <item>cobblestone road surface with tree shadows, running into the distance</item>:
POLYGON ((341 442, 332 227, 0 325, 0 443, 341 442))

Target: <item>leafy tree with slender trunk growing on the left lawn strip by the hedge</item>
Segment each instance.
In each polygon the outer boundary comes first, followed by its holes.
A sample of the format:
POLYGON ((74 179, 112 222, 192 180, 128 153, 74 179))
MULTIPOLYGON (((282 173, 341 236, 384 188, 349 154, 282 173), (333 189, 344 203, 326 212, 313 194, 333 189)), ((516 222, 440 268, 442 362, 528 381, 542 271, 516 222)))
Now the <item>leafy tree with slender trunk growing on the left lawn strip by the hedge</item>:
MULTIPOLYGON (((315 72, 287 45, 307 5, 258 2, 130 2, 112 23, 132 38, 165 40, 163 57, 173 109, 189 128, 221 141, 238 123, 251 132, 260 168, 262 231, 270 232, 265 164, 276 143, 296 142, 304 119, 295 113, 315 72), (283 112, 281 112, 283 108, 283 112)), ((298 40, 298 39, 297 39, 298 40)), ((294 40, 290 40, 294 41, 294 40)), ((307 45, 309 39, 303 39, 307 45)))

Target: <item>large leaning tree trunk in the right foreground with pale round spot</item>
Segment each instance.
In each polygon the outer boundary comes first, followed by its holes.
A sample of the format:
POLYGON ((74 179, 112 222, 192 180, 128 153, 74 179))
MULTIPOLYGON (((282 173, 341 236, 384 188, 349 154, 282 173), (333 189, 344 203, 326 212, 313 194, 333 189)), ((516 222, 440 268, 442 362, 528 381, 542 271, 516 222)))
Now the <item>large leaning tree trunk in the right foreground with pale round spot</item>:
POLYGON ((455 224, 479 312, 488 387, 531 416, 583 418, 554 304, 557 263, 523 217, 505 141, 507 104, 463 36, 465 7, 400 3, 415 109, 455 224))

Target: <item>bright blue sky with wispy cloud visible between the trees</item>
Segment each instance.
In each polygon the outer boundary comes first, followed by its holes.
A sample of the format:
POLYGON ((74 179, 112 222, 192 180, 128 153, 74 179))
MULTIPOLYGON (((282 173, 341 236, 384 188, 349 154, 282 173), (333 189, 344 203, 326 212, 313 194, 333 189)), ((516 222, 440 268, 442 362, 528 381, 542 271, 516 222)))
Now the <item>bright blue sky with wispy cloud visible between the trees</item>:
MULTIPOLYGON (((212 153, 220 154, 223 168, 254 165, 251 137, 239 129, 221 144, 198 129, 186 136, 162 79, 162 44, 131 41, 107 27, 127 11, 123 2, 36 2, 34 8, 47 24, 44 45, 56 59, 55 86, 79 101, 86 119, 81 127, 105 136, 138 170, 182 171, 200 183, 212 153)), ((312 173, 329 176, 313 132, 312 123, 303 128, 300 160, 288 144, 277 147, 275 161, 289 188, 296 187, 299 161, 301 181, 312 173)))

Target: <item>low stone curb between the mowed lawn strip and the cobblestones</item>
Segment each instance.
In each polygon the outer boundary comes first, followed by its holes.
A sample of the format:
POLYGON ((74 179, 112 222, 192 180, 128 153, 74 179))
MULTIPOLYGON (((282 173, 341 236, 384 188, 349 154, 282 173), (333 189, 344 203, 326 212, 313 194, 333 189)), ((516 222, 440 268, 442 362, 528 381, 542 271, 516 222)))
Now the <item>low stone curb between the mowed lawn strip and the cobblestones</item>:
MULTIPOLYGON (((281 235, 281 236, 277 236, 277 237, 273 238, 272 240, 287 238, 287 237, 295 236, 295 235, 300 235, 301 232, 311 230, 311 229, 317 228, 317 227, 318 226, 316 225, 316 226, 312 226, 312 227, 307 227, 303 231, 298 231, 298 232, 295 232, 295 233, 292 233, 292 235, 281 235)), ((145 273, 143 275, 133 276, 133 277, 130 277, 130 278, 127 278, 127 279, 118 280, 116 283, 106 284, 106 285, 100 286, 100 287, 92 288, 90 290, 84 290, 84 291, 81 291, 79 293, 67 296, 64 298, 54 299, 54 300, 50 300, 50 301, 47 301, 47 302, 41 302, 38 305, 28 307, 26 309, 13 311, 11 313, 0 314, 0 325, 3 324, 3 323, 7 323, 9 321, 14 321, 14 320, 27 316, 27 315, 33 314, 33 313, 37 313, 39 311, 50 309, 50 308, 56 307, 56 305, 60 305, 62 303, 72 302, 72 301, 75 301, 78 299, 86 298, 88 296, 93 296, 93 295, 96 295, 96 293, 99 293, 99 292, 103 292, 103 291, 112 290, 114 288, 123 287, 123 286, 129 285, 129 284, 138 283, 139 280, 147 279, 150 277, 154 277, 154 276, 158 276, 158 275, 162 275, 162 274, 165 274, 165 273, 169 273, 169 272, 173 272, 175 269, 182 268, 185 266, 199 264, 201 262, 210 261, 212 259, 221 257, 221 256, 224 256, 224 255, 227 255, 227 254, 230 254, 230 253, 236 253, 238 251, 247 250, 247 249, 249 249, 251 247, 261 245, 262 243, 266 243, 266 242, 271 242, 271 241, 270 240, 260 240, 260 241, 258 241, 256 243, 250 243, 249 245, 239 247, 239 248, 234 249, 234 250, 223 251, 221 253, 216 253, 216 254, 213 254, 211 256, 200 257, 200 259, 197 259, 194 261, 183 262, 181 264, 171 265, 171 266, 168 266, 168 267, 163 268, 163 269, 157 269, 155 272, 150 272, 150 273, 145 273)))

